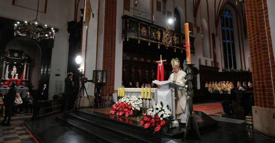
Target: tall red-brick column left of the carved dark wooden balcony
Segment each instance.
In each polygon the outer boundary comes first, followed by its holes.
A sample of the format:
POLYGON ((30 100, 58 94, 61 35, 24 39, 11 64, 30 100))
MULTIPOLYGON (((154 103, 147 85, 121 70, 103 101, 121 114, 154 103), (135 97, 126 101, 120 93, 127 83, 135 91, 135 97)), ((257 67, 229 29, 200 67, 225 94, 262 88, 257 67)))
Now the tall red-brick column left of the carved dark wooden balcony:
POLYGON ((117 0, 105 0, 102 69, 107 70, 107 76, 102 86, 103 95, 111 95, 115 84, 116 6, 117 0))

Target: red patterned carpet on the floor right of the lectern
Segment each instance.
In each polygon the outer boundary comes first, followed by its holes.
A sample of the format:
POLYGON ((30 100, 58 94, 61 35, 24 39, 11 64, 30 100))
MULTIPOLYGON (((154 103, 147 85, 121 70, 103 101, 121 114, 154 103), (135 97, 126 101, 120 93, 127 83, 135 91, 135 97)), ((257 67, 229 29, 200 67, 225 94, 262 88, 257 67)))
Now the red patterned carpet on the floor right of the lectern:
POLYGON ((207 115, 223 112, 221 102, 205 103, 193 105, 195 111, 202 111, 207 115))

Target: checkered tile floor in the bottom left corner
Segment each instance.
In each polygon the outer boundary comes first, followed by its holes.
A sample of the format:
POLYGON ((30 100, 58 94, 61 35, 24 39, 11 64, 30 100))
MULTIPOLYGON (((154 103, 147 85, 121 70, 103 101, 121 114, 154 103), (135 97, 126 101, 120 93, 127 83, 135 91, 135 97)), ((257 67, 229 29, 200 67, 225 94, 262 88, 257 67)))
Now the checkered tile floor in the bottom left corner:
MULTIPOLYGON (((23 120, 31 117, 31 113, 15 114, 12 116, 10 126, 0 126, 0 143, 35 143, 32 135, 23 126, 23 120)), ((0 121, 3 121, 3 117, 0 117, 0 121)))

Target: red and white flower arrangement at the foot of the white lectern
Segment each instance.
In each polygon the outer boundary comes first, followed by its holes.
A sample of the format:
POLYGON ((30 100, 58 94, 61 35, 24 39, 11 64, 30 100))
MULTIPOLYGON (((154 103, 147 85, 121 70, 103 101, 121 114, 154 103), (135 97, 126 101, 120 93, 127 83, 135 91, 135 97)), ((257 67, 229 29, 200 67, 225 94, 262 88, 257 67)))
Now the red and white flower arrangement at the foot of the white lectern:
POLYGON ((153 106, 153 108, 147 110, 140 122, 141 126, 144 125, 144 129, 154 133, 157 131, 162 131, 165 133, 170 127, 170 124, 175 121, 173 116, 169 115, 171 113, 171 109, 168 109, 168 105, 166 107, 162 106, 163 105, 161 102, 160 104, 157 104, 156 106, 153 106))

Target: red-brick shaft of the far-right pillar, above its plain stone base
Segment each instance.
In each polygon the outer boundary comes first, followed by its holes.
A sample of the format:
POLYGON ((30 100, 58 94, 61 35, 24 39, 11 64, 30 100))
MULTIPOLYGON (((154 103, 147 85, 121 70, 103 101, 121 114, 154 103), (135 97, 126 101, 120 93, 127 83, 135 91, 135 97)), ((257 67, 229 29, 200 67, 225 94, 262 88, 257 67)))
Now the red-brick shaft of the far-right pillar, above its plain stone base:
POLYGON ((266 0, 246 0, 255 106, 274 109, 275 63, 266 0))

